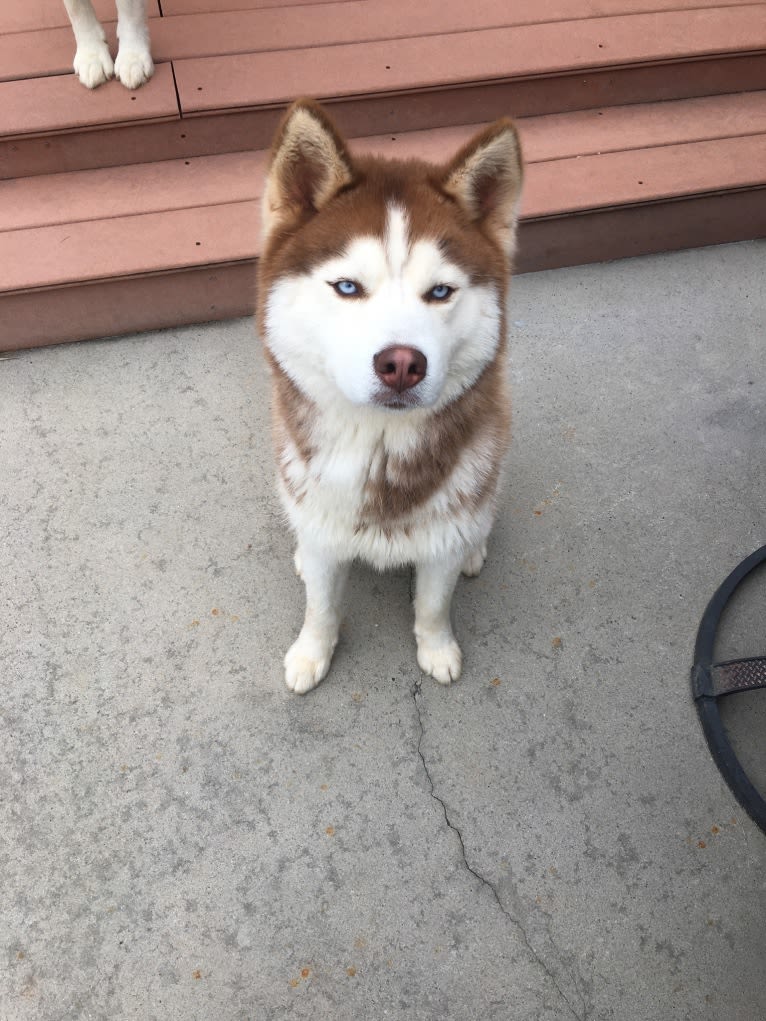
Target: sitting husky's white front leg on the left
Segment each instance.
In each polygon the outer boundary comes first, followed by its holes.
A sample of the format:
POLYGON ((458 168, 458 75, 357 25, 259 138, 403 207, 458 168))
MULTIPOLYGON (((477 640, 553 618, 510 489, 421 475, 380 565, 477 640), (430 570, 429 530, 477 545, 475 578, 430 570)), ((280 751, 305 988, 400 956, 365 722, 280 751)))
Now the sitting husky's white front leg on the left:
POLYGON ((297 556, 305 584, 305 620, 285 657, 285 682, 291 691, 302 695, 316 688, 330 669, 348 565, 302 542, 297 556))

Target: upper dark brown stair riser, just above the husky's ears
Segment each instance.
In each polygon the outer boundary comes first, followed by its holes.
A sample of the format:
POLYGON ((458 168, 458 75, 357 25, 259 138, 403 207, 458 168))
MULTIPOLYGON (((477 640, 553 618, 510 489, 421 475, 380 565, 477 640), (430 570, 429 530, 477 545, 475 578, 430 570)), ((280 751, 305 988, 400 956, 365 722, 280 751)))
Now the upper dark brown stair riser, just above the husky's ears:
MULTIPOLYGON (((748 92, 766 82, 766 54, 720 57, 588 75, 490 83, 414 94, 330 101, 350 137, 478 124, 576 109, 748 92)), ((282 109, 203 114, 171 124, 5 139, 0 180, 266 148, 282 109)))

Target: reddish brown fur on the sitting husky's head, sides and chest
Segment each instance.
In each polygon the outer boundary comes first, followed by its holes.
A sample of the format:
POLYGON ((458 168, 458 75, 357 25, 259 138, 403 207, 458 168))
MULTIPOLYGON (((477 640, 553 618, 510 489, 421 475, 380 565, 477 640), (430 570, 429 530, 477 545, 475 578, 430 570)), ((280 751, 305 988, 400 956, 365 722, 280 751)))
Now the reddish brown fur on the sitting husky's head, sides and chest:
MULTIPOLYGON (((322 119, 330 124, 344 158, 347 157, 342 140, 324 112, 322 119)), ((476 148, 477 141, 491 139, 507 130, 507 121, 501 121, 488 129, 440 167, 416 160, 348 157, 350 183, 319 210, 295 205, 267 240, 258 271, 257 315, 261 336, 266 336, 265 299, 275 281, 288 274, 307 272, 337 255, 356 237, 382 238, 386 210, 392 202, 406 209, 413 238, 437 241, 473 283, 492 283, 500 307, 505 307, 509 257, 493 237, 491 227, 472 216, 448 193, 445 182, 461 160, 476 148)), ((277 135, 276 146, 283 132, 284 127, 277 135)), ((466 448, 479 437, 482 450, 489 447, 492 451, 493 468, 475 480, 470 492, 457 494, 456 500, 464 508, 478 507, 493 496, 510 425, 504 317, 499 336, 494 359, 477 383, 451 404, 425 419, 423 441, 417 453, 401 458, 382 452, 379 463, 371 465, 360 528, 388 530, 392 524, 406 527, 408 515, 443 485, 466 448)), ((304 464, 309 465, 312 423, 318 410, 268 350, 267 357, 272 371, 278 457, 289 440, 304 464)))

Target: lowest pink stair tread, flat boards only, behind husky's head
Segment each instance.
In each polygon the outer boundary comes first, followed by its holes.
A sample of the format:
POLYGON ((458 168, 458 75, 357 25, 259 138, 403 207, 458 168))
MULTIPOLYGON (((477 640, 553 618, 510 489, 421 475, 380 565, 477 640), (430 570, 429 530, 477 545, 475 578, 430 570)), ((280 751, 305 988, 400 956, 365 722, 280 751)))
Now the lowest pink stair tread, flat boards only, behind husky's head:
MULTIPOLYGON (((766 188, 766 92, 678 106, 612 108, 606 120, 583 111, 520 121, 528 161, 522 217, 766 188), (669 144, 677 121, 684 141, 669 144), (624 147, 610 151, 618 139, 624 147)), ((474 131, 435 129, 350 145, 438 158, 474 131)), ((7 266, 0 290, 254 259, 266 163, 267 153, 255 151, 2 182, 9 216, 0 233, 0 263, 7 266), (147 237, 162 243, 147 246, 147 237)))

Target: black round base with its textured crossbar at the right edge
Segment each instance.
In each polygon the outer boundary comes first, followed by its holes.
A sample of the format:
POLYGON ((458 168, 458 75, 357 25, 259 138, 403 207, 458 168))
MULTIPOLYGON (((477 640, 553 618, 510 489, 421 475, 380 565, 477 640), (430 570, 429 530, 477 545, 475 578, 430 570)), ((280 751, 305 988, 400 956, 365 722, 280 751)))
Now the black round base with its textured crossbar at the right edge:
POLYGON ((766 657, 713 663, 718 625, 726 603, 740 582, 764 562, 766 546, 761 546, 734 568, 708 603, 697 633, 691 692, 716 765, 737 801, 766 833, 766 800, 753 786, 734 755, 717 702, 723 695, 766 687, 766 657))

